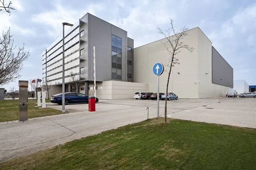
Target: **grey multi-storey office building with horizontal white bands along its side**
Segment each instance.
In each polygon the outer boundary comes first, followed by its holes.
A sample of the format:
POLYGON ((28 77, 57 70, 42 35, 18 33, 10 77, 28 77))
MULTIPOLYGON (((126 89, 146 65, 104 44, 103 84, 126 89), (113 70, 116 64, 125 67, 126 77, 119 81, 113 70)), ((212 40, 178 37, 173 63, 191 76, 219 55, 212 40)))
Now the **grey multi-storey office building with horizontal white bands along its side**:
MULTIPOLYGON (((127 37, 127 31, 87 13, 65 31, 66 92, 88 94, 89 83, 94 81, 93 46, 96 54, 96 82, 133 82, 134 43, 127 37), (72 87, 70 73, 80 79, 79 89, 72 87)), ((43 80, 52 85, 61 85, 62 37, 50 45, 42 55, 43 80)))

